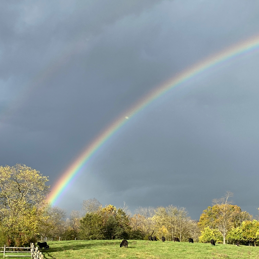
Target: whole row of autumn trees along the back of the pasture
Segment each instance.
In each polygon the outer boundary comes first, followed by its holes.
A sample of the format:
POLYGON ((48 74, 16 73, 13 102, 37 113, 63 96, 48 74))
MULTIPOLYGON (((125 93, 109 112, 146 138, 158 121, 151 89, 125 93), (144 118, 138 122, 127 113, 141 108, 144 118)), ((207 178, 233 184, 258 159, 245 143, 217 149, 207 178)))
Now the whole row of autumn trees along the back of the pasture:
POLYGON ((84 200, 80 211, 66 212, 46 203, 48 178, 26 165, 0 166, 0 245, 26 246, 41 238, 144 239, 172 241, 259 242, 259 222, 230 201, 232 193, 213 200, 199 221, 184 207, 139 207, 134 215, 126 205, 116 208, 95 198, 84 200))

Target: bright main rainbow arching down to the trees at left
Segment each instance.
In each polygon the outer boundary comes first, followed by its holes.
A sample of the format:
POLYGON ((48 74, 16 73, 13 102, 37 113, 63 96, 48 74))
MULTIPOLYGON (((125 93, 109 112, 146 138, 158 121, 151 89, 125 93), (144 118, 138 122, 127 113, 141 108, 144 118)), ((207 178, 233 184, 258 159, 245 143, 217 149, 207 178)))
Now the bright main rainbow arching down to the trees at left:
POLYGON ((76 160, 67 168, 62 174, 62 177, 54 185, 52 191, 47 197, 47 201, 51 205, 55 205, 61 198, 61 195, 65 192, 66 188, 75 178, 77 173, 87 164, 90 158, 95 154, 98 149, 112 136, 114 135, 121 126, 123 126, 131 117, 137 114, 140 110, 148 106, 155 99, 164 95, 166 92, 175 88, 194 76, 207 71, 219 64, 225 64, 229 60, 233 60, 237 57, 251 54, 254 51, 259 50, 259 36, 249 38, 237 45, 231 46, 230 48, 210 56, 201 62, 194 64, 189 69, 186 69, 171 79, 165 81, 159 85, 154 91, 151 91, 147 96, 141 99, 131 109, 127 110, 124 114, 121 114, 118 119, 113 121, 105 131, 100 134, 90 145, 87 146, 83 152, 77 157, 76 160))

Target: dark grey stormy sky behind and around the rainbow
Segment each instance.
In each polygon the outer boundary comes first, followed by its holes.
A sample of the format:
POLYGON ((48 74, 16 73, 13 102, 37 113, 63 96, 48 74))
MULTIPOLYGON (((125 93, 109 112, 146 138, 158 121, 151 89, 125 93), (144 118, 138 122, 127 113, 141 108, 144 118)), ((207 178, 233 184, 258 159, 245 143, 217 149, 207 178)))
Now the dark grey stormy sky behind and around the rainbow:
MULTIPOLYGON (((122 114, 209 56, 259 36, 258 1, 2 1, 0 165, 49 177, 122 114)), ((259 207, 259 48, 143 106, 93 154, 55 205, 185 207, 226 191, 259 207)), ((123 115, 124 116, 124 115, 123 115)))

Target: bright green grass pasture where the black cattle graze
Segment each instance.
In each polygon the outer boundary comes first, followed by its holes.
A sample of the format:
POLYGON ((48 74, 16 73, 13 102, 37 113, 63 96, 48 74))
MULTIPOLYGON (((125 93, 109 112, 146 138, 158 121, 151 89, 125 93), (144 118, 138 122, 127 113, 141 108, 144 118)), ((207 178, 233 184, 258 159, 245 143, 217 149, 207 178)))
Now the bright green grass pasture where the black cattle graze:
POLYGON ((42 252, 47 259, 259 259, 259 247, 188 242, 128 240, 128 248, 119 247, 121 240, 83 240, 48 242, 50 250, 42 252))

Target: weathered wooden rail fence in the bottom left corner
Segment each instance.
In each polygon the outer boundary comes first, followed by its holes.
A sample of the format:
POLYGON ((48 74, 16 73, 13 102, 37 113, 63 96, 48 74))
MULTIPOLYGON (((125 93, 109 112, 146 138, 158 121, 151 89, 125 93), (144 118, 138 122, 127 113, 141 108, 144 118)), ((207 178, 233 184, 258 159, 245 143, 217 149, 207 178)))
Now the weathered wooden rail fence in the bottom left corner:
POLYGON ((30 257, 31 259, 44 259, 43 254, 41 254, 41 252, 38 250, 38 247, 34 247, 33 243, 30 243, 30 247, 11 247, 11 246, 4 246, 4 247, 0 247, 0 248, 4 248, 4 251, 0 251, 0 252, 4 252, 4 258, 5 257, 30 257), (27 249, 29 251, 10 251, 8 249, 27 249), (6 253, 30 253, 30 254, 6 254, 6 253))

